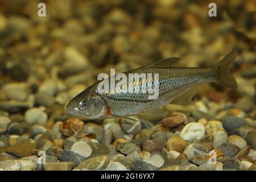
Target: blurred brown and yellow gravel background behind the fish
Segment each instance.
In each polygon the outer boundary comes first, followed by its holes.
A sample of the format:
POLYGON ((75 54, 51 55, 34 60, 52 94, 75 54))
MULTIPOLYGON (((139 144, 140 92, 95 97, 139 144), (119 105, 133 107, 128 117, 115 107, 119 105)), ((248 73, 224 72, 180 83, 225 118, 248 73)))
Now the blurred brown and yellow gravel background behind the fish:
POLYGON ((24 113, 43 106, 48 117, 63 120, 64 105, 98 73, 123 72, 167 57, 207 67, 237 47, 232 72, 239 88, 206 85, 195 100, 229 101, 227 108, 253 111, 255 10, 254 0, 1 0, 0 110, 24 113), (46 3, 46 17, 38 16, 40 2, 46 3), (212 2, 216 17, 208 15, 212 2))

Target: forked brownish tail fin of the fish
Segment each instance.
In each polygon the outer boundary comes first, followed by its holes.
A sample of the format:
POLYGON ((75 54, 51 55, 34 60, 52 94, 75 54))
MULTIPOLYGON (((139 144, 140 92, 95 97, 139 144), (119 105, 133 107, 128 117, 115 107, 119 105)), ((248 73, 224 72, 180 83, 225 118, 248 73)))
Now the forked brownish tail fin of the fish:
POLYGON ((238 85, 237 85, 236 79, 230 73, 229 65, 236 58, 237 54, 238 54, 237 49, 234 49, 232 52, 226 55, 224 59, 220 61, 220 63, 216 65, 217 67, 216 81, 232 89, 236 89, 238 85))

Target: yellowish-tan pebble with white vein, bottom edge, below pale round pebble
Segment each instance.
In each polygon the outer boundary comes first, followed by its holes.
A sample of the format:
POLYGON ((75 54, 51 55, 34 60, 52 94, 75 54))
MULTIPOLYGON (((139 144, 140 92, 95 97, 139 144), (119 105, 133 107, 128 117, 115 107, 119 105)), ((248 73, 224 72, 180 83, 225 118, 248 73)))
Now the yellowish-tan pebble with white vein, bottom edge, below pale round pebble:
POLYGON ((86 159, 77 168, 82 170, 102 170, 109 164, 109 155, 98 155, 94 158, 86 159))

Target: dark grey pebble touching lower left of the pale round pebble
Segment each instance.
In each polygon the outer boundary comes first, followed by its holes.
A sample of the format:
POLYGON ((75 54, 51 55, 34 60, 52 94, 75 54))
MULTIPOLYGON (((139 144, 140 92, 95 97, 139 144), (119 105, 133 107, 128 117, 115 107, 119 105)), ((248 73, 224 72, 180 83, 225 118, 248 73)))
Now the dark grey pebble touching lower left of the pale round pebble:
POLYGON ((64 149, 60 152, 60 155, 58 155, 58 159, 61 162, 73 162, 75 166, 79 165, 81 162, 83 162, 86 158, 85 156, 82 156, 78 154, 77 152, 64 149))

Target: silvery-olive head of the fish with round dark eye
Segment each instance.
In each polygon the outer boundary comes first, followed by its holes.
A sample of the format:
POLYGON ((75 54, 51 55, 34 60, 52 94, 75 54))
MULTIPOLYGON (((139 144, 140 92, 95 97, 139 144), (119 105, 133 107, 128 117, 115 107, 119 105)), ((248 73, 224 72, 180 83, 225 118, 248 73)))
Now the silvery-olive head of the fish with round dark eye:
POLYGON ((66 112, 85 119, 99 119, 105 117, 107 106, 105 100, 90 89, 86 89, 72 98, 66 106, 66 112))

